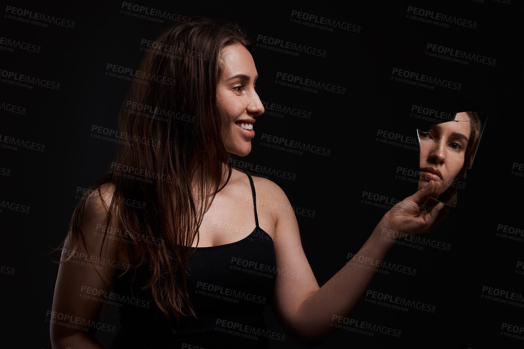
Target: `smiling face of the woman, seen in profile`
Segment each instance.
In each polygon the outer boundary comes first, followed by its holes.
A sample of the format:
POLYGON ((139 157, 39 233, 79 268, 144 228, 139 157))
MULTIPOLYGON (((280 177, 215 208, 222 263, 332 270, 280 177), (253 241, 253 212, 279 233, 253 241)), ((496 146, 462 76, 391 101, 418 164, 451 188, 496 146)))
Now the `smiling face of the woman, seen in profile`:
POLYGON ((251 151, 251 140, 257 116, 264 106, 255 92, 258 74, 255 62, 242 44, 223 48, 223 75, 216 91, 222 116, 222 139, 228 152, 246 156, 251 151))

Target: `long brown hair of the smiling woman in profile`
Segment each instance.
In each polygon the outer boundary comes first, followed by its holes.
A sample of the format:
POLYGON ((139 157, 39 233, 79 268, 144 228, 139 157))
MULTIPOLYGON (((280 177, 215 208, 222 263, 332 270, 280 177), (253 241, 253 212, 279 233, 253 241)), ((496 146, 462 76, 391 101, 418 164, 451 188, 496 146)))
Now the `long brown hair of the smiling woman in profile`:
POLYGON ((85 245, 82 213, 89 193, 97 190, 102 198, 101 185, 114 185, 107 227, 113 221, 134 241, 122 244, 132 282, 144 280, 141 286, 158 308, 177 320, 195 316, 185 277, 190 246, 195 237, 198 244, 203 215, 232 173, 216 88, 223 73, 220 53, 233 43, 249 50, 238 26, 192 18, 168 27, 150 45, 118 115, 123 141, 116 159, 82 197, 69 227, 74 252, 79 239, 85 245), (144 206, 126 204, 129 199, 144 206))

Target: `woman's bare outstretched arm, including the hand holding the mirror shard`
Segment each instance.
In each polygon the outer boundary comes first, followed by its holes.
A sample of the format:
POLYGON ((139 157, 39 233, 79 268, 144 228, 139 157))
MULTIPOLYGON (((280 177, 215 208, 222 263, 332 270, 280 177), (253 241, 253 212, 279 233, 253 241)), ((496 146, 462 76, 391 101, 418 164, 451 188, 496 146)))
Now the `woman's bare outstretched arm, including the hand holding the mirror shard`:
MULTIPOLYGON (((381 239, 386 235, 383 232, 398 231, 401 237, 428 232, 447 214, 447 210, 442 212, 444 204, 430 204, 432 200, 427 200, 434 189, 435 182, 431 181, 391 208, 352 260, 322 287, 316 282, 304 255, 296 217, 280 215, 274 243, 277 267, 279 271, 291 271, 289 275, 300 273, 300 278, 277 274, 273 308, 283 326, 297 339, 308 340, 308 343, 321 341, 333 332, 335 327, 331 324, 351 312, 375 275, 373 265, 379 265, 377 261, 382 261, 395 244, 395 240, 381 239), (432 206, 430 212, 419 209, 422 203, 423 207, 432 206)), ((283 192, 274 190, 272 194, 283 201, 284 206, 289 205, 283 192)))

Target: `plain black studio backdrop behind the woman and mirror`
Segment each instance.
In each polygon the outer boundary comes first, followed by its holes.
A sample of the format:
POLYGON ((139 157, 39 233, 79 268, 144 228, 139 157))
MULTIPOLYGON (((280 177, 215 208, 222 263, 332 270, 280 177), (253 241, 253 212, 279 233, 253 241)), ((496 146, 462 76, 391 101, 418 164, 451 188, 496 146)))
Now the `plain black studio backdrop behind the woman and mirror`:
MULTIPOLYGON (((126 72, 148 40, 194 16, 237 22, 253 40, 266 112, 252 152, 234 165, 287 194, 320 286, 416 191, 416 130, 460 111, 488 116, 459 205, 433 232, 393 247, 319 347, 524 345, 521 2, 13 1, 3 11, 0 289, 9 347, 51 347, 59 253, 50 247, 65 237, 84 188, 110 168, 116 138, 106 133, 117 129, 126 72)), ((266 318, 286 333, 270 308, 266 318)), ((100 322, 118 329, 116 309, 104 307, 100 322)), ((111 336, 97 332, 102 343, 111 336)), ((271 347, 302 346, 286 335, 271 347)))

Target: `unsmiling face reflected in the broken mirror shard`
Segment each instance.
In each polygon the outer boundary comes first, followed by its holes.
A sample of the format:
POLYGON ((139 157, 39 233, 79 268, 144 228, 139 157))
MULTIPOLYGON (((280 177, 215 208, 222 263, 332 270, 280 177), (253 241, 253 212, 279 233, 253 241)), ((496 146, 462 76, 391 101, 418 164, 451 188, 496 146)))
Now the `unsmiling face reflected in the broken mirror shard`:
POLYGON ((419 190, 431 179, 442 194, 459 175, 471 136, 471 125, 465 112, 457 113, 455 121, 433 125, 429 132, 420 135, 419 190))

